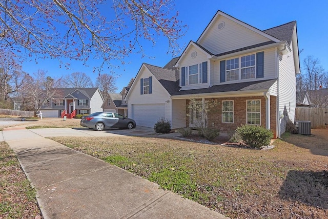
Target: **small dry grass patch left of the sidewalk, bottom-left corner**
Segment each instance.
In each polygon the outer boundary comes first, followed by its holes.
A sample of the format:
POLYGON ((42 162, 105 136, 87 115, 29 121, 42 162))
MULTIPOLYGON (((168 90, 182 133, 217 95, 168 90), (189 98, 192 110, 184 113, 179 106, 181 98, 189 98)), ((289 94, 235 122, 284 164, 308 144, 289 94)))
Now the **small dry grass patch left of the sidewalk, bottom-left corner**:
POLYGON ((0 218, 41 218, 35 195, 15 154, 0 142, 0 218))

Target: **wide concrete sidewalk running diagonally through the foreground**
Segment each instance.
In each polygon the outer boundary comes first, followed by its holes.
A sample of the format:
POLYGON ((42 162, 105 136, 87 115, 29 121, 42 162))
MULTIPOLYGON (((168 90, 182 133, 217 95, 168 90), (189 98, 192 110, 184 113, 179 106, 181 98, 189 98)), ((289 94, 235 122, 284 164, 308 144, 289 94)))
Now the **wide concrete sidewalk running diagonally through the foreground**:
MULTIPOLYGON (((10 128, 1 138, 14 150, 37 189, 44 218, 226 218, 159 189, 155 183, 44 138, 43 131, 10 128)), ((62 131, 53 130, 51 136, 60 136, 62 131)), ((77 136, 90 136, 88 133, 77 136)))

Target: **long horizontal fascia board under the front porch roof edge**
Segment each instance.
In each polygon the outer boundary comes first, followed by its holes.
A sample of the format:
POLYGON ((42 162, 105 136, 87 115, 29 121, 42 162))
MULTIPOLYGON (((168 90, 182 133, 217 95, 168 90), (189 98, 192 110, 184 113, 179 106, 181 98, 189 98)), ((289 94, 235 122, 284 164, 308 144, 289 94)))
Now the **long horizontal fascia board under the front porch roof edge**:
POLYGON ((244 97, 244 96, 263 96, 265 90, 252 90, 252 91, 231 91, 231 92, 219 92, 219 93, 197 93, 187 95, 173 95, 170 96, 172 99, 190 99, 190 98, 217 98, 217 97, 244 97))

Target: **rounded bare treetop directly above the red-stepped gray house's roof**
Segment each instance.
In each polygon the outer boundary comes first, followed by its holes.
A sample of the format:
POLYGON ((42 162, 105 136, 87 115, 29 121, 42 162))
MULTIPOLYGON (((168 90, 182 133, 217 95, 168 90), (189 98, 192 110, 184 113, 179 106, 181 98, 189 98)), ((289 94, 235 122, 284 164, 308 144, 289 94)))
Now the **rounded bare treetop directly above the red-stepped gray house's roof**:
POLYGON ((91 78, 84 72, 74 72, 63 78, 61 86, 71 88, 90 88, 93 87, 91 78))

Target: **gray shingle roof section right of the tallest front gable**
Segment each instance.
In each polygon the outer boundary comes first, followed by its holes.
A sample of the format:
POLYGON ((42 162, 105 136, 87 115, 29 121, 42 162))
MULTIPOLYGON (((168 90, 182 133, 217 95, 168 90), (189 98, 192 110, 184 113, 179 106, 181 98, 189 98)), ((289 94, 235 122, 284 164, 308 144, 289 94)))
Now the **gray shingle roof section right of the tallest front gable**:
POLYGON ((281 41, 287 41, 288 45, 291 45, 295 24, 296 21, 292 21, 277 27, 263 30, 263 32, 268 33, 281 41))

